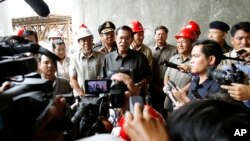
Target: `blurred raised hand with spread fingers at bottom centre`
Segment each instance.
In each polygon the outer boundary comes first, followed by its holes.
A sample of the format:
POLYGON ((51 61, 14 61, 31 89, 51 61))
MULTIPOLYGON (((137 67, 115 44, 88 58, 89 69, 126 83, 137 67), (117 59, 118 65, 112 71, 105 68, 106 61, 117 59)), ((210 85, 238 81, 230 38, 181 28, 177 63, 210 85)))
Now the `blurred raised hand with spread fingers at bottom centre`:
POLYGON ((169 136, 164 124, 150 115, 149 107, 141 110, 136 103, 134 116, 130 112, 125 114, 124 128, 132 141, 168 141, 169 136))

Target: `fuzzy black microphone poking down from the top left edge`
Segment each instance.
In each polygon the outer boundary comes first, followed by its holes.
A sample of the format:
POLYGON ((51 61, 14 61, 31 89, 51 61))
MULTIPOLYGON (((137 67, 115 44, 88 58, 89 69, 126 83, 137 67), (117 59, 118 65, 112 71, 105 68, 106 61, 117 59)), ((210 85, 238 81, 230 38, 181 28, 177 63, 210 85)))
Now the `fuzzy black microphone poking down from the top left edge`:
POLYGON ((24 0, 41 17, 47 17, 50 13, 48 5, 43 0, 24 0))

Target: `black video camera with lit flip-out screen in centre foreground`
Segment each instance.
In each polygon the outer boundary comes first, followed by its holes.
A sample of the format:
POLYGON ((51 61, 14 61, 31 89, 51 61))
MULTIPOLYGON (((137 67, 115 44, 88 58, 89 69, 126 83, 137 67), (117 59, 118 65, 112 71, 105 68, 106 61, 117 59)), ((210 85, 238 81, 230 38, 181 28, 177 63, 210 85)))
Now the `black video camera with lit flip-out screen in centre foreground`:
POLYGON ((103 121, 108 119, 110 108, 123 106, 124 93, 128 90, 124 83, 110 80, 115 73, 125 73, 132 77, 130 70, 120 69, 110 72, 107 79, 85 81, 85 97, 71 118, 73 125, 79 129, 77 138, 111 132, 103 121))

